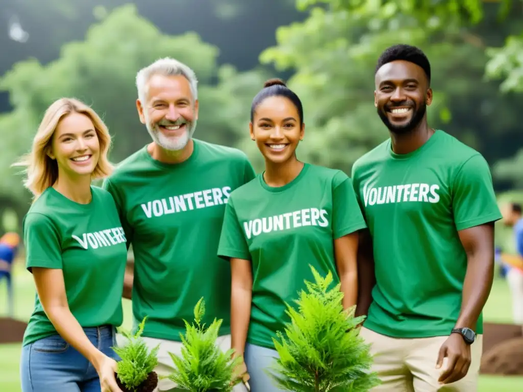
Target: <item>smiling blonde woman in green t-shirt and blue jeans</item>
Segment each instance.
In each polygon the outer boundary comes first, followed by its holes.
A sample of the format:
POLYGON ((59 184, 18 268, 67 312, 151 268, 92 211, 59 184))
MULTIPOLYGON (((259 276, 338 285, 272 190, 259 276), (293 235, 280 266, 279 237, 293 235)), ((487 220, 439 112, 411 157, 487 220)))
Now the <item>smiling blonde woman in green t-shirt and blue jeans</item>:
POLYGON ((98 115, 69 98, 46 111, 27 166, 34 201, 24 218, 35 310, 22 343, 22 392, 121 392, 115 327, 126 238, 111 195, 91 185, 111 172, 110 135, 98 115))

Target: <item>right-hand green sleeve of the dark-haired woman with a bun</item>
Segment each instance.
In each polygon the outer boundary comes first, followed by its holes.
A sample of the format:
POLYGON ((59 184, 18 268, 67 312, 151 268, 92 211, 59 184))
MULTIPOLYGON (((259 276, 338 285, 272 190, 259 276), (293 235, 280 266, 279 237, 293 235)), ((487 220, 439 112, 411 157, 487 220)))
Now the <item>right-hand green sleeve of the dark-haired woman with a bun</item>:
POLYGON ((356 200, 353 182, 343 172, 333 179, 332 199, 334 239, 367 227, 356 200))

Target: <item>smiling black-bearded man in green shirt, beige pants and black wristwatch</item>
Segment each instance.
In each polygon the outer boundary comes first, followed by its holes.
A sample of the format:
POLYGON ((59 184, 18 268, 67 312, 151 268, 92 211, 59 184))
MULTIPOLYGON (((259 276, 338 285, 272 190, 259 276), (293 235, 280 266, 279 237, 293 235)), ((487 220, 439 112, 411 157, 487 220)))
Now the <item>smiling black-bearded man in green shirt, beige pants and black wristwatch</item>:
POLYGON ((360 333, 376 355, 376 390, 473 392, 493 223, 502 217, 490 169, 480 153, 427 124, 433 92, 422 51, 386 49, 375 84, 390 139, 358 159, 352 177, 369 228, 357 313, 367 315, 360 333))

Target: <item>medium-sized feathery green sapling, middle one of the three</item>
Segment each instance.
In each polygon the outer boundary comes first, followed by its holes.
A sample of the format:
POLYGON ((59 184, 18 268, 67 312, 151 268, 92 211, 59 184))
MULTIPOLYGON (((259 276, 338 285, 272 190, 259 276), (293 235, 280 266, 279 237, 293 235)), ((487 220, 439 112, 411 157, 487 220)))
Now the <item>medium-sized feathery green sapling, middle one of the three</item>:
POLYGON ((180 334, 183 344, 181 355, 169 353, 175 371, 168 378, 181 390, 231 392, 233 385, 241 382, 240 379, 233 380, 233 371, 242 359, 239 356, 232 359, 232 349, 223 352, 217 347, 216 339, 222 320, 214 319, 208 328, 201 324, 205 314, 203 298, 196 304, 194 314, 194 324, 184 320, 186 333, 185 336, 180 334))

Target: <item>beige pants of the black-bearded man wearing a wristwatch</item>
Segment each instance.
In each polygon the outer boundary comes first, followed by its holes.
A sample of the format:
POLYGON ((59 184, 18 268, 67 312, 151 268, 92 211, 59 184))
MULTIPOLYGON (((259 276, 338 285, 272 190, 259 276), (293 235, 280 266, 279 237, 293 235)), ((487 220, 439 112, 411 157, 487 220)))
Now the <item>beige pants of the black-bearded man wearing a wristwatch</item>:
POLYGON ((372 371, 378 373, 381 385, 372 392, 476 392, 479 377, 483 336, 477 335, 471 345, 472 362, 469 372, 459 381, 439 385, 438 378, 446 369, 436 369, 439 348, 448 338, 440 336, 420 339, 396 339, 362 327, 360 336, 371 344, 374 356, 372 371))

